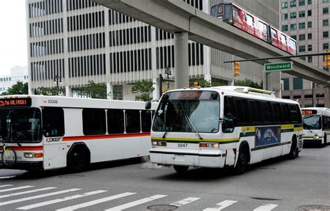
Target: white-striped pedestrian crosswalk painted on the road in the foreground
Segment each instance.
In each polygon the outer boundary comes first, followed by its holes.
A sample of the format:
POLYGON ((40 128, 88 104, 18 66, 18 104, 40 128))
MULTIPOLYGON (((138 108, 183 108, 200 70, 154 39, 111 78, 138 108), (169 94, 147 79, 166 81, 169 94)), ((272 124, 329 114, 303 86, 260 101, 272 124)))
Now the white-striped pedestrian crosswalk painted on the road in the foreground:
MULTIPOLYGON (((84 192, 84 189, 81 188, 61 189, 60 187, 36 187, 34 185, 15 186, 12 184, 6 184, 0 185, 0 210, 2 210, 1 208, 4 206, 8 206, 4 210, 32 210, 35 208, 46 208, 46 206, 47 210, 49 210, 49 205, 52 205, 50 208, 57 211, 78 210, 81 208, 91 210, 93 209, 94 205, 101 205, 102 210, 108 211, 127 209, 135 210, 134 208, 139 210, 139 208, 141 209, 141 207, 139 207, 141 205, 150 205, 150 203, 153 201, 157 202, 158 204, 162 204, 162 200, 164 200, 164 198, 171 198, 171 196, 165 194, 155 194, 147 197, 142 196, 143 195, 141 193, 132 192, 111 194, 109 190, 105 189, 90 190, 88 192, 84 192), (129 196, 136 196, 136 199, 133 200, 129 196), (77 203, 77 200, 76 203, 74 203, 75 199, 79 199, 79 203, 77 203), (81 200, 83 200, 82 203, 81 200), (125 203, 116 203, 113 205, 111 202, 116 200, 121 200, 120 202, 124 200, 125 203), (33 201, 33 203, 30 201, 33 201), (65 207, 64 204, 67 206, 65 207)), ((203 202, 203 198, 195 196, 182 198, 180 200, 178 200, 179 198, 176 199, 177 200, 175 201, 173 200, 173 203, 168 203, 168 200, 166 200, 166 203, 163 204, 172 206, 175 205, 177 207, 176 210, 183 209, 186 206, 191 206, 188 208, 189 210, 196 210, 195 205, 197 203, 203 202)), ((201 208, 198 210, 219 211, 226 210, 228 208, 232 208, 233 210, 235 209, 235 205, 239 205, 239 208, 244 206, 244 210, 253 211, 270 211, 274 210, 274 208, 278 208, 278 205, 276 204, 262 204, 255 208, 246 208, 244 203, 246 202, 233 201, 223 198, 219 201, 216 201, 212 205, 209 205, 209 208, 201 208), (239 205, 239 203, 241 204, 239 205)))

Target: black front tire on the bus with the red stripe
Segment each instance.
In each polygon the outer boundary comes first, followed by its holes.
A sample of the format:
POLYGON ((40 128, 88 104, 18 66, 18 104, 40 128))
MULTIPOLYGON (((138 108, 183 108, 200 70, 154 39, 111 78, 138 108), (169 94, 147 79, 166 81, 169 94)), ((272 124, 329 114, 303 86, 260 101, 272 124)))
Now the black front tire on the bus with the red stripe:
POLYGON ((90 154, 87 147, 83 144, 73 146, 68 154, 68 169, 79 172, 87 169, 90 163, 90 154))

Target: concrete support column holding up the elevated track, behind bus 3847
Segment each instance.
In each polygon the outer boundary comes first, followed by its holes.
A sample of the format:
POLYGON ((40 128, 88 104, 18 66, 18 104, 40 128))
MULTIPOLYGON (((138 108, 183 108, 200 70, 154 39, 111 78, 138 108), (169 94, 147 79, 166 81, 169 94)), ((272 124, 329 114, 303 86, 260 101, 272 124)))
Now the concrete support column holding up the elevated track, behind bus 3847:
POLYGON ((188 33, 174 33, 175 88, 189 87, 188 33))

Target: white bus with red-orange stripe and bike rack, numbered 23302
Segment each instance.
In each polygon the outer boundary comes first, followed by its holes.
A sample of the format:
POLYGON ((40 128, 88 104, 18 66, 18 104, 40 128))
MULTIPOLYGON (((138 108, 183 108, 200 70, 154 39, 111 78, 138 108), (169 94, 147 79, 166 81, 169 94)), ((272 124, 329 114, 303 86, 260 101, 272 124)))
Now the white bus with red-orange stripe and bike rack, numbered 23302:
POLYGON ((153 110, 145 102, 42 95, 0 97, 0 141, 28 171, 149 155, 153 110))

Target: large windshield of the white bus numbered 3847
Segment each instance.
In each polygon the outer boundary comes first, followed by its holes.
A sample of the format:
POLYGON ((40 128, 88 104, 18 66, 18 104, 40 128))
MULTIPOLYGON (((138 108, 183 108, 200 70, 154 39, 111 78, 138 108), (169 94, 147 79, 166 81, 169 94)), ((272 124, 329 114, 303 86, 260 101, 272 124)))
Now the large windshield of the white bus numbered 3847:
POLYGON ((211 91, 166 93, 159 103, 152 130, 156 132, 219 131, 219 95, 211 91))

